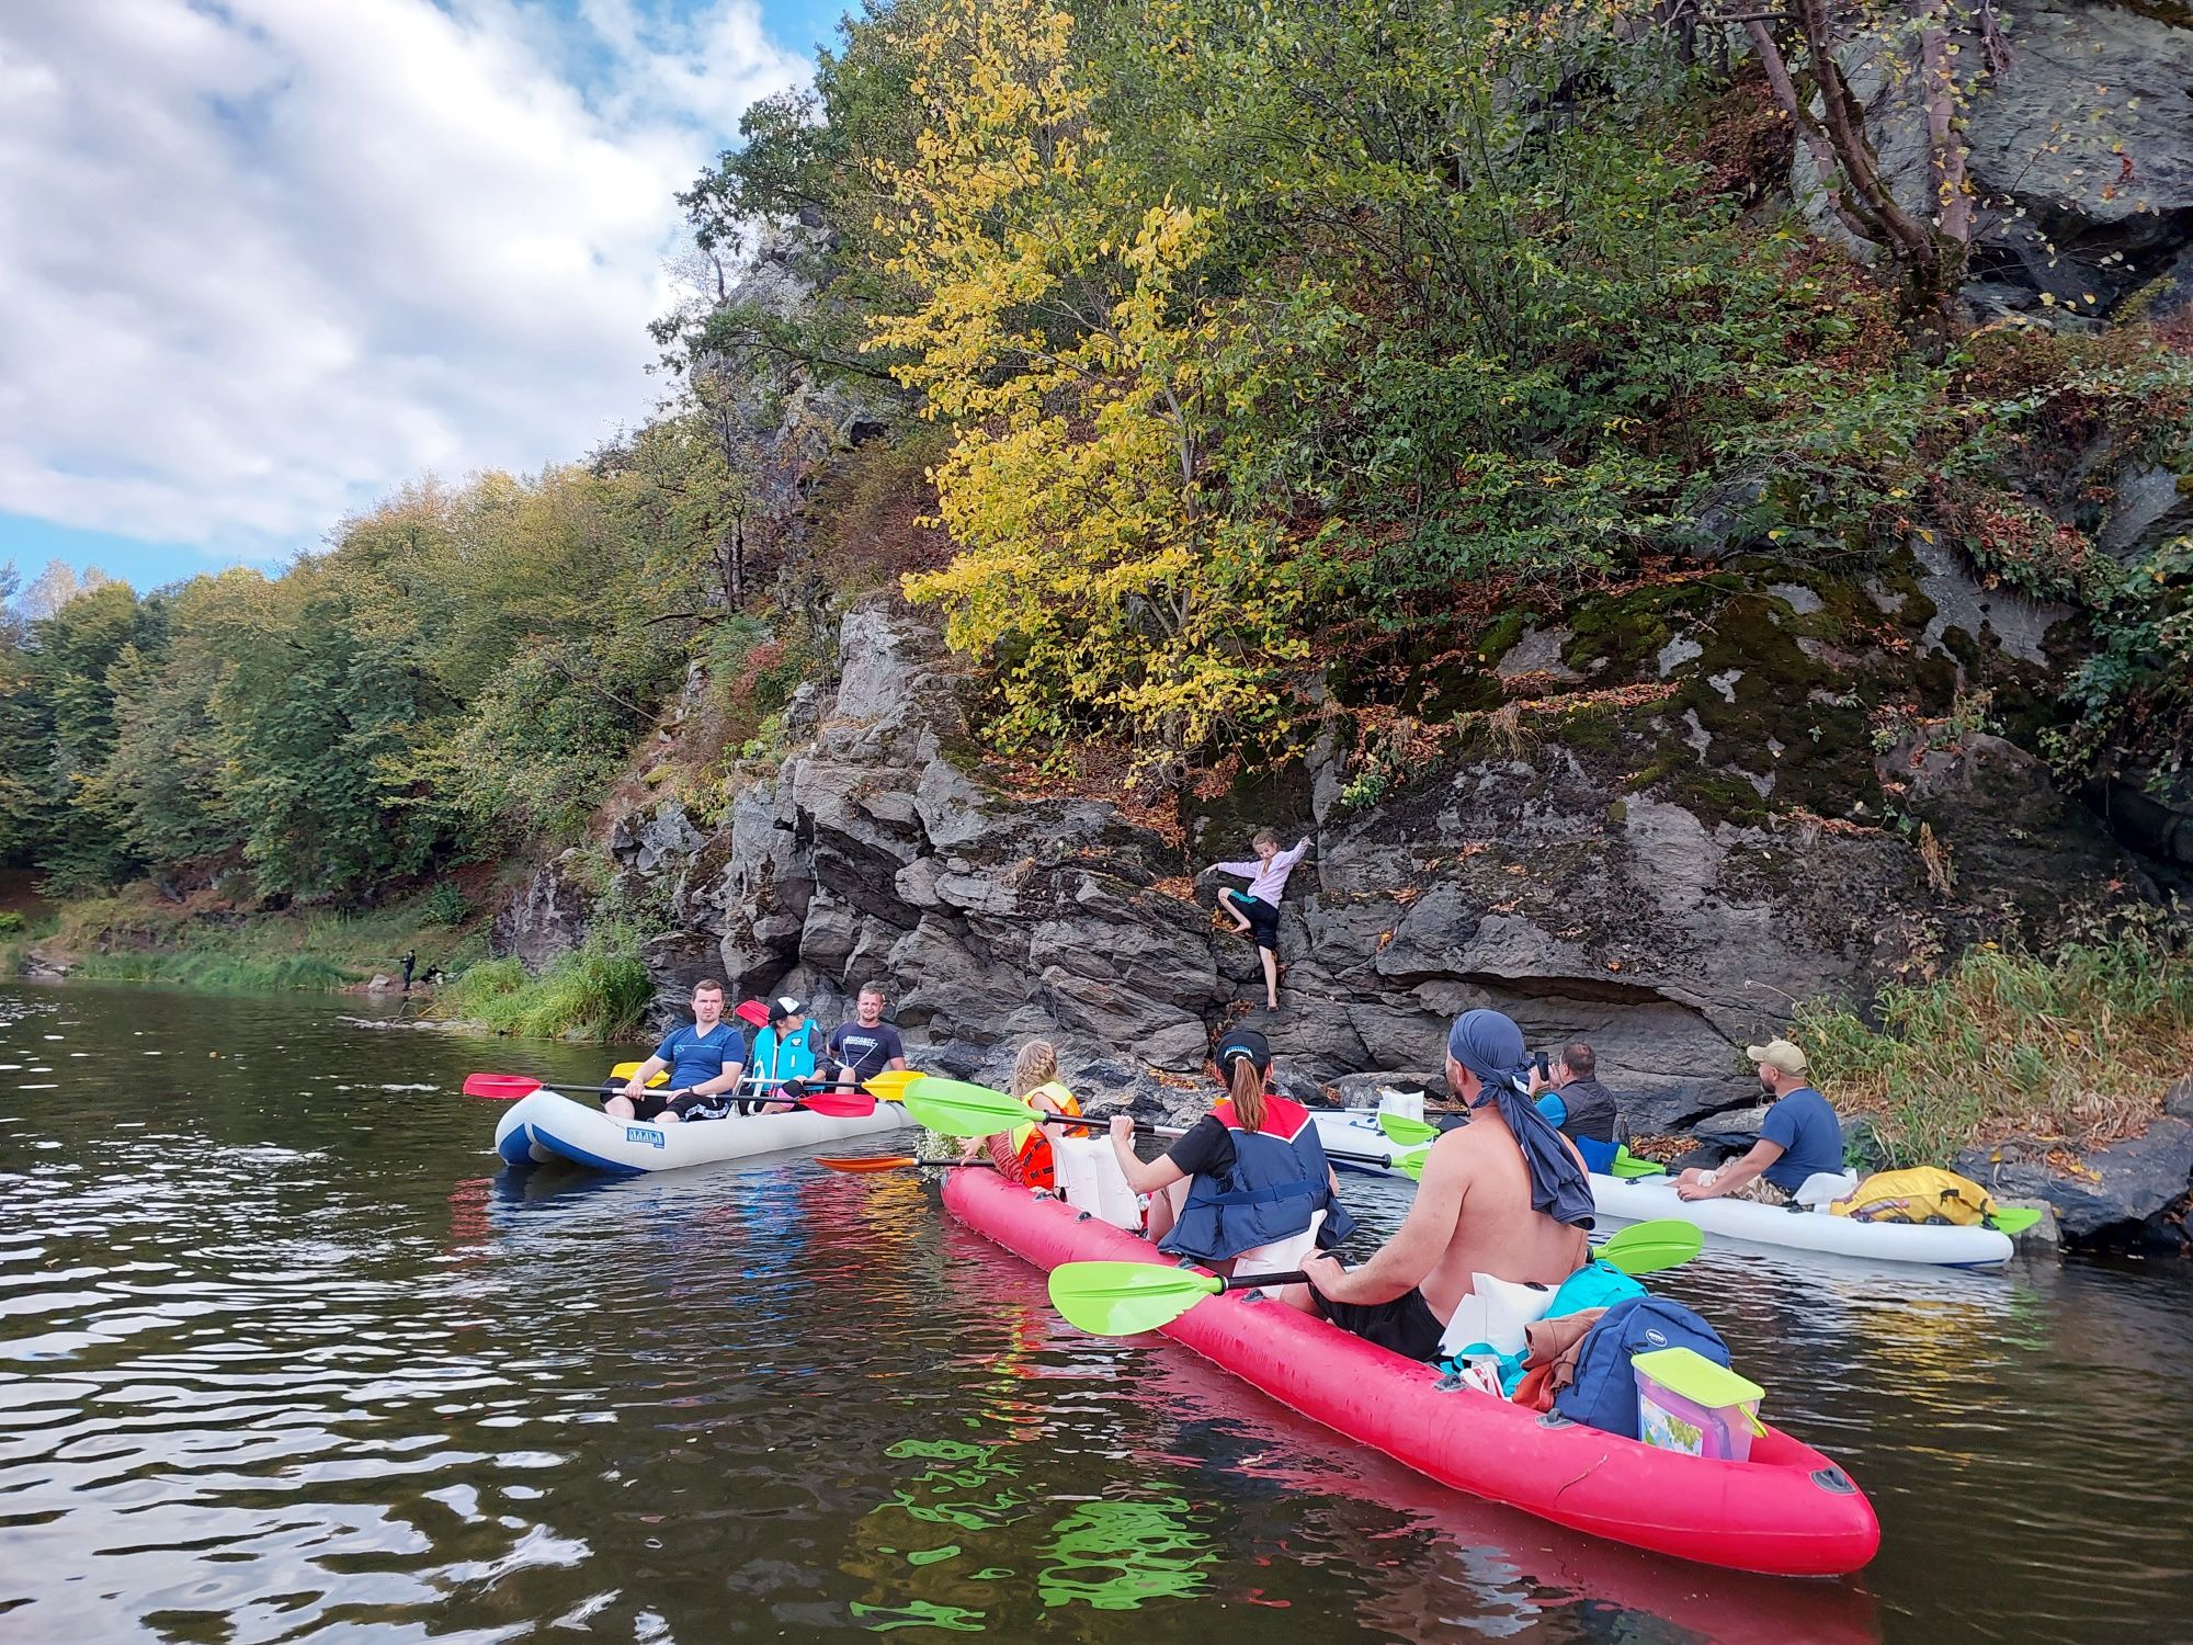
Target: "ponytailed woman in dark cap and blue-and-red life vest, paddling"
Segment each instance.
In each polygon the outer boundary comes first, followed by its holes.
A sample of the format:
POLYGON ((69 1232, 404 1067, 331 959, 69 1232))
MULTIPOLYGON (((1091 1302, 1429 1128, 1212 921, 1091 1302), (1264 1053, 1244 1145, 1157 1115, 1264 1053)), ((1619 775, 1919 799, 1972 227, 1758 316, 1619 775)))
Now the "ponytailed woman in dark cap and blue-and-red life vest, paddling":
POLYGON ((1134 1156, 1134 1121, 1112 1119, 1112 1152, 1127 1184, 1149 1195, 1149 1237, 1158 1250, 1228 1272, 1243 1250, 1303 1233, 1318 1211, 1325 1213, 1318 1246, 1329 1250, 1347 1239, 1355 1219, 1340 1204, 1318 1125, 1307 1108, 1272 1090, 1272 1046, 1263 1035, 1250 1029, 1222 1035, 1211 1077, 1226 1097, 1147 1165, 1134 1156), (1173 1189, 1175 1182, 1186 1191, 1173 1189))

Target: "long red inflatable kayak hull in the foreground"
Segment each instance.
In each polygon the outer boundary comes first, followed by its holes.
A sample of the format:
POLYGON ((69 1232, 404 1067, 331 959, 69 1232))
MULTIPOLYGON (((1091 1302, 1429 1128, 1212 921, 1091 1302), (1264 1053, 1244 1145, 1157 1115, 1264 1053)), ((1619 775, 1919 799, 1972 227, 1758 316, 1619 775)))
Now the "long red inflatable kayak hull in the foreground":
MULTIPOLYGON (((1156 1248, 993 1171, 952 1171, 945 1209, 1042 1270, 1164 1263, 1156 1248)), ((1882 1540, 1873 1505, 1779 1428, 1746 1463, 1656 1450, 1559 1417, 1443 1388, 1441 1373, 1257 1296, 1211 1296, 1164 1336, 1338 1434, 1469 1496, 1649 1553, 1774 1577, 1840 1577, 1882 1540)))

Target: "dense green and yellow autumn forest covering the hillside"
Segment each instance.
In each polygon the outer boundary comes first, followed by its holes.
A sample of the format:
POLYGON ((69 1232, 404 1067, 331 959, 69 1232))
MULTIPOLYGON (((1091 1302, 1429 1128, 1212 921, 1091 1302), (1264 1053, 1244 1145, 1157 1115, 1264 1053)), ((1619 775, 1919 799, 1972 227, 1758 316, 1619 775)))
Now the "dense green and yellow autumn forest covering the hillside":
POLYGON ((816 614, 899 579, 982 667, 996 752, 1162 790, 1336 711, 1436 746, 1425 682, 1520 605, 1914 542, 2070 603, 2046 752, 2167 787, 2193 540, 2099 551, 2094 454, 2184 467, 2193 322, 1961 298, 1993 31, 1967 0, 871 0, 682 197, 704 279, 649 426, 419 480, 281 575, 11 572, 0 864, 368 904, 581 838, 693 702, 706 807, 827 665, 816 614), (1879 175, 1868 42, 1914 64, 1932 213, 1879 175), (743 300, 757 246, 811 300, 743 300), (877 408, 796 485, 792 384, 877 408))

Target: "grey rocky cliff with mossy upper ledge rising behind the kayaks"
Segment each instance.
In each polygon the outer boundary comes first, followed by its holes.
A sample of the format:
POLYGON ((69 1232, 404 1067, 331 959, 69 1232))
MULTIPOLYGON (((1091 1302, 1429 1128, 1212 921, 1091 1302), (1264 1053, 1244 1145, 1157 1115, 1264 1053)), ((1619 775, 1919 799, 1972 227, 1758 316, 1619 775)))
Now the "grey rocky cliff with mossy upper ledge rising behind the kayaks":
MULTIPOLYGON (((612 849, 671 908, 649 948, 667 1005, 719 972, 827 1018, 875 976, 925 1066, 998 1075, 1042 1033, 1145 1092, 1230 1018, 1296 1084, 1333 1086, 1436 1070, 1452 1016, 1493 1005, 1535 1044, 1590 1037, 1636 1116, 1669 1130, 1750 1101, 1737 1048, 1796 998, 2136 873, 2015 744, 1941 717, 1980 678, 2009 695, 2039 669, 2048 612, 1943 570, 1904 588, 1792 575, 1702 570, 1513 634, 1474 676, 1507 708, 1377 803, 1347 803, 1364 750, 1325 739, 1156 816, 1007 792, 967 737, 969 682, 873 597, 842 619, 836 689, 800 691, 792 748, 741 770, 721 827, 671 801, 612 849), (1191 886, 1263 820, 1314 840, 1276 1016, 1213 917, 1217 882, 1191 886)), ((504 943, 537 954, 577 917, 550 869, 504 943)))

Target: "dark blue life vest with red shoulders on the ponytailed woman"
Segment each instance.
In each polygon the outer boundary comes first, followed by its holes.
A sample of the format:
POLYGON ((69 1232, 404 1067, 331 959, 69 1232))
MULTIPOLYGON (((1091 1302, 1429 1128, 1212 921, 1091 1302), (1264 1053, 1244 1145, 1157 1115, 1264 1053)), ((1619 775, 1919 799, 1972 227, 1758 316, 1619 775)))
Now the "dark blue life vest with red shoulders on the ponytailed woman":
POLYGON ((1318 1211, 1325 1213, 1320 1250, 1331 1250, 1355 1233, 1355 1217, 1333 1198, 1331 1165, 1307 1108, 1285 1097, 1265 1097, 1263 1130, 1257 1132, 1243 1130, 1232 1099, 1213 1108, 1211 1116, 1232 1134, 1232 1171, 1222 1178, 1197 1171, 1189 1178, 1180 1222, 1158 1241, 1158 1250, 1217 1263, 1303 1233, 1318 1211))

